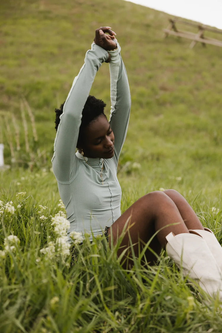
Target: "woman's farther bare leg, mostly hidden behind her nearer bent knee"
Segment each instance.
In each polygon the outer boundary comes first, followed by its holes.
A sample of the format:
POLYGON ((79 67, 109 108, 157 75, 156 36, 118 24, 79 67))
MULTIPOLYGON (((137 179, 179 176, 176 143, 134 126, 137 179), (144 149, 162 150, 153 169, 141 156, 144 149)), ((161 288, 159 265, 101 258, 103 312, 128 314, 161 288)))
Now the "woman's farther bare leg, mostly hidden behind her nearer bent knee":
POLYGON ((168 195, 175 205, 177 206, 180 215, 186 224, 187 229, 201 229, 204 230, 199 218, 197 217, 194 210, 191 208, 186 199, 174 189, 167 189, 164 191, 168 195))

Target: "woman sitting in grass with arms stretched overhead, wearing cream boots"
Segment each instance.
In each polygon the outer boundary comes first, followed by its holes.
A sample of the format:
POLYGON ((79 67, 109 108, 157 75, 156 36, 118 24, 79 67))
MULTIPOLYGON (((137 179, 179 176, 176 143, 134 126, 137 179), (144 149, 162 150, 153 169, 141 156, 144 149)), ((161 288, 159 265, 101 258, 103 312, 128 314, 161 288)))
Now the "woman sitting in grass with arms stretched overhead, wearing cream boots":
MULTIPOLYGON (((221 246, 178 192, 148 193, 120 213, 121 188, 116 172, 129 111, 130 92, 120 46, 110 27, 100 27, 65 104, 56 110, 58 130, 52 163, 71 223, 68 235, 72 231, 102 235, 105 230, 109 243, 115 244, 122 233, 117 254, 129 246, 130 237, 138 256, 143 244, 157 232, 151 251, 145 251, 146 260, 154 261, 153 252, 159 254, 166 248, 185 274, 197 279, 211 296, 219 292, 222 299, 221 246), (110 66, 110 121, 104 114, 105 103, 89 96, 103 62, 110 66)), ((127 255, 130 258, 130 247, 127 255)), ((123 263, 125 267, 129 264, 130 260, 123 263)))

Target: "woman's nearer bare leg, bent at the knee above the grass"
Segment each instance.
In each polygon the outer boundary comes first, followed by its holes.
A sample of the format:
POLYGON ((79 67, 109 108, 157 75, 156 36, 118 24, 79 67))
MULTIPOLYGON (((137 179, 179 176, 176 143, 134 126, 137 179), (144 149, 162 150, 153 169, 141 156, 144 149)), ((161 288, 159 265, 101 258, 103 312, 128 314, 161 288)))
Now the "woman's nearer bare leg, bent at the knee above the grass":
MULTIPOLYGON (((176 235, 179 233, 188 233, 183 218, 173 200, 161 191, 148 193, 134 202, 110 227, 110 241, 112 238, 115 244, 125 227, 127 222, 127 230, 124 233, 121 246, 117 252, 120 255, 124 248, 129 246, 129 234, 132 241, 135 255, 138 256, 142 243, 147 243, 153 234, 160 230, 150 243, 150 247, 157 254, 161 248, 165 248, 167 243, 166 235, 171 231, 176 235), (166 226, 171 224, 170 226, 166 226), (138 243, 138 239, 141 242, 138 243), (140 248, 139 248, 140 246, 140 248)), ((130 253, 129 253, 130 256, 130 253)), ((155 261, 156 257, 152 252, 145 252, 147 261, 155 261)))

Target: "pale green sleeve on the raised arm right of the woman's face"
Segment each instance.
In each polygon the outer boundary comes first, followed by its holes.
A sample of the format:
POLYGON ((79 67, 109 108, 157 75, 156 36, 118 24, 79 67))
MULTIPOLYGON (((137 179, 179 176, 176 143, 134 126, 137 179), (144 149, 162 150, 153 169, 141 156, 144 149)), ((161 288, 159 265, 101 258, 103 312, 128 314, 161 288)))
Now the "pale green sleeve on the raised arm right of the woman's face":
POLYGON ((114 133, 114 158, 116 166, 125 141, 131 106, 128 78, 119 53, 119 44, 117 43, 117 45, 118 50, 110 52, 110 126, 114 133))

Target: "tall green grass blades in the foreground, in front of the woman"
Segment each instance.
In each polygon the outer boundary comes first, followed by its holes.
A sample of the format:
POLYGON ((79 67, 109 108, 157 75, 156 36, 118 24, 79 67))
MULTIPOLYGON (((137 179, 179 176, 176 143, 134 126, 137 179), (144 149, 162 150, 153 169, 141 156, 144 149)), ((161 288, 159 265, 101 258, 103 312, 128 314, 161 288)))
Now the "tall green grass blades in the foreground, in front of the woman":
MULTIPOLYGON (((1 332, 219 331, 218 301, 200 299, 200 288, 164 252, 154 266, 143 265, 140 256, 124 270, 116 258, 119 244, 110 249, 105 237, 90 243, 86 236, 75 245, 77 262, 59 248, 48 256, 40 250, 56 239, 50 216, 61 208, 39 207, 25 193, 12 204, 15 212, 5 209, 1 218, 1 332), (10 234, 20 243, 6 250, 10 234)), ((204 225, 212 228, 219 215, 202 213, 204 225)))

